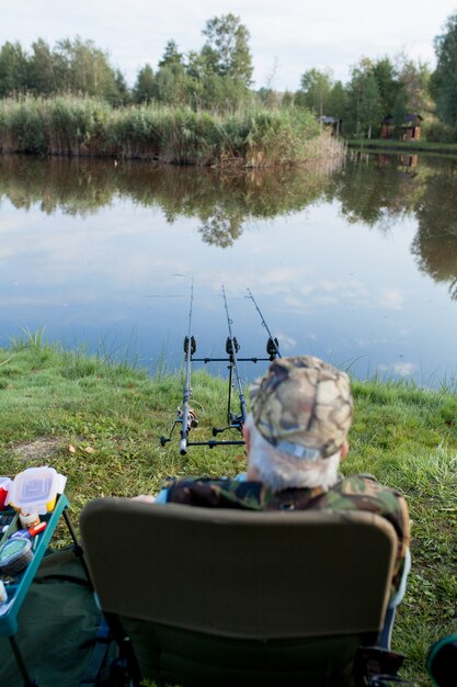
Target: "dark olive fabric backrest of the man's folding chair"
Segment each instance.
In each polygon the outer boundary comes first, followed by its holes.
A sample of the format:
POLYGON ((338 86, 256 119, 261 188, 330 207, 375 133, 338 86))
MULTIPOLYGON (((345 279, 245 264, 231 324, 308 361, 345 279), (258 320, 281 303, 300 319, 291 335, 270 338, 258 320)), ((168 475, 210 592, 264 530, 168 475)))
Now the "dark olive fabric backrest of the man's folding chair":
POLYGON ((105 612, 198 637, 279 644, 373 642, 397 549, 393 528, 368 513, 253 513, 115 498, 85 506, 81 533, 105 612))

